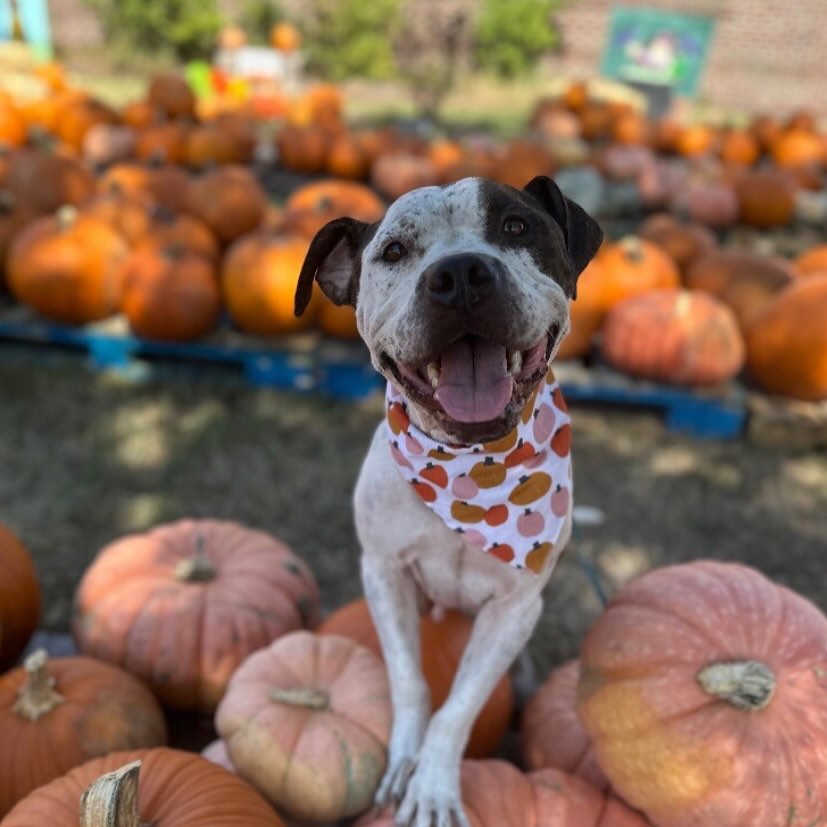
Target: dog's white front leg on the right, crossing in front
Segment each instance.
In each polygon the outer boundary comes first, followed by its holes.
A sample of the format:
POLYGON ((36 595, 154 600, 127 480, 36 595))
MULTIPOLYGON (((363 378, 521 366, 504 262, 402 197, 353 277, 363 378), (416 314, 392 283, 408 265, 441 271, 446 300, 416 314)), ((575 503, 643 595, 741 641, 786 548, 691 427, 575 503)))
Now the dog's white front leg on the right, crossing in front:
POLYGON ((399 827, 468 827, 459 766, 471 727, 497 681, 525 646, 540 617, 538 590, 518 590, 486 603, 477 614, 451 694, 428 724, 396 814, 399 827))

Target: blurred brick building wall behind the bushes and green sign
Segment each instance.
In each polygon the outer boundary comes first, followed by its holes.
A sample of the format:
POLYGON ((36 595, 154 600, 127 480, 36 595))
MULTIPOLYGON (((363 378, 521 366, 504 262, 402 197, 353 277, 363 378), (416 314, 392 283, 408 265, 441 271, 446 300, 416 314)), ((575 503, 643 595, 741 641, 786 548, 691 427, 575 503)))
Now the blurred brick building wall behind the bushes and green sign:
MULTIPOLYGON (((151 0, 147 0, 151 2, 151 0)), ((434 0, 408 0, 433 7, 434 0)), ((94 48, 103 33, 84 0, 49 0, 58 48, 94 48)), ((301 15, 305 0, 283 0, 301 15)), ((479 0, 438 0, 442 7, 479 6, 479 0)), ((219 0, 232 16, 243 0, 219 0)), ((700 97, 721 106, 786 112, 806 106, 827 115, 827 0, 567 0, 558 13, 562 48, 549 61, 564 76, 593 77, 612 8, 648 7, 710 16, 715 21, 700 97)))

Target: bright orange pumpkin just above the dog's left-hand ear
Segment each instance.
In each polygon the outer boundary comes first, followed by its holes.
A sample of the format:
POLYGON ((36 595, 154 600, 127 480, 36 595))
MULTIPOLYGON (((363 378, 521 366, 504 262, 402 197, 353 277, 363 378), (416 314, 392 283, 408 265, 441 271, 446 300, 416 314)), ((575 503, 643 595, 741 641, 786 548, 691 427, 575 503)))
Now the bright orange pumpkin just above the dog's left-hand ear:
POLYGON ((369 224, 378 221, 385 212, 385 204, 363 184, 331 179, 294 190, 284 209, 286 227, 312 239, 334 218, 350 216, 369 224))

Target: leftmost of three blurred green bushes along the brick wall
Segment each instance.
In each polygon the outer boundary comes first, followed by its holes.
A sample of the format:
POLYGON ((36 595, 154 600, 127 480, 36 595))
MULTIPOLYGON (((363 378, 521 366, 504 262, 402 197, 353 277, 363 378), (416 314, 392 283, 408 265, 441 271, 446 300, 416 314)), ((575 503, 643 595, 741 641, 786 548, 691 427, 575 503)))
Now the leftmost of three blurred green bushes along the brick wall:
POLYGON ((179 60, 215 49, 222 20, 216 0, 86 0, 99 14, 111 43, 179 60))

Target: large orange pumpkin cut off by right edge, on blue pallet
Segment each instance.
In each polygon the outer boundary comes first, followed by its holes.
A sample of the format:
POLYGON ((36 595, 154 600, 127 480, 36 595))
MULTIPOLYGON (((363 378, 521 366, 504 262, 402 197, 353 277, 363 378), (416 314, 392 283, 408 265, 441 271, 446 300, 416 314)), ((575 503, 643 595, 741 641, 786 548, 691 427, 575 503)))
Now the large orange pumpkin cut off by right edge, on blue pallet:
POLYGON ((746 331, 747 367, 767 391, 827 399, 827 275, 811 275, 781 291, 746 331))

